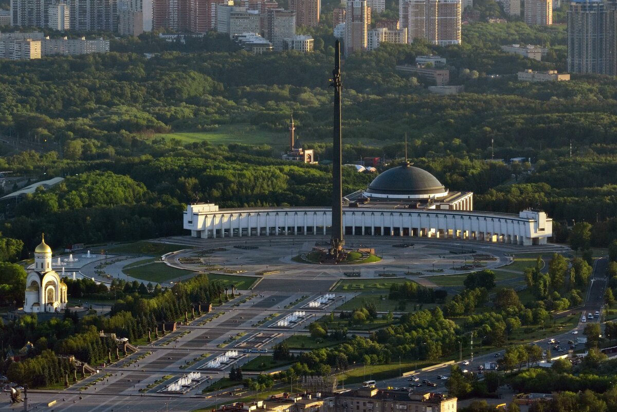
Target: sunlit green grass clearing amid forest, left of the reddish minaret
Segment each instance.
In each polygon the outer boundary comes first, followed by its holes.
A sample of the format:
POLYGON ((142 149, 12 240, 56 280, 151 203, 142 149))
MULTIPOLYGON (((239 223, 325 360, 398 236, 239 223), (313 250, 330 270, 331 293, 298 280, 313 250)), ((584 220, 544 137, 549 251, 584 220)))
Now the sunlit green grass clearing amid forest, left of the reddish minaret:
POLYGON ((270 146, 287 146, 287 134, 284 131, 265 131, 247 123, 237 125, 220 125, 213 131, 195 131, 178 133, 159 133, 155 138, 178 139, 182 143, 208 141, 212 144, 269 144, 270 146))

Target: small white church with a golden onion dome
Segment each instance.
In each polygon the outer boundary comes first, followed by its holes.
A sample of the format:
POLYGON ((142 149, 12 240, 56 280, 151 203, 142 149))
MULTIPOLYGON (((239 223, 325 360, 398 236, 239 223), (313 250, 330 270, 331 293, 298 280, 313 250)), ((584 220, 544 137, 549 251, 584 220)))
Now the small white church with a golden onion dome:
POLYGON ((51 265, 51 247, 45 237, 35 249, 35 267, 26 279, 25 313, 60 312, 67 306, 67 285, 51 265))

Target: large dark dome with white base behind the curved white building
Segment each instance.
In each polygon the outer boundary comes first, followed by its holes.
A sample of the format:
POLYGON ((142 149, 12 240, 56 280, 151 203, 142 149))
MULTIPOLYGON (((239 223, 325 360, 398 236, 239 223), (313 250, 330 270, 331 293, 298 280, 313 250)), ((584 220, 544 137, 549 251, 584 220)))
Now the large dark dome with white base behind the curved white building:
POLYGON ((366 196, 421 199, 445 196, 444 185, 426 170, 410 165, 393 167, 377 176, 366 189, 366 196))

